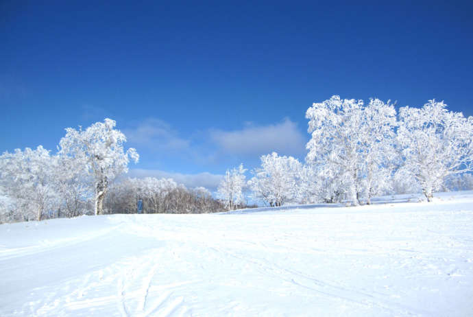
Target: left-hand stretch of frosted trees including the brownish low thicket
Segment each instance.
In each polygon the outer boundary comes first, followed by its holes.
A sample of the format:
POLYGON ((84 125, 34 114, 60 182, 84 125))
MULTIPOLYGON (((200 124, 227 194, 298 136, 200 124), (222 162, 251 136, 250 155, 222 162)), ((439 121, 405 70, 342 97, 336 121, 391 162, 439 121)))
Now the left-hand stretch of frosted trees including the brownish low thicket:
POLYGON ((125 135, 105 119, 82 130, 66 128, 58 152, 16 149, 0 156, 0 223, 75 217, 83 214, 138 212, 201 213, 221 211, 209 191, 187 189, 171 179, 127 179, 134 148, 125 150, 125 135))

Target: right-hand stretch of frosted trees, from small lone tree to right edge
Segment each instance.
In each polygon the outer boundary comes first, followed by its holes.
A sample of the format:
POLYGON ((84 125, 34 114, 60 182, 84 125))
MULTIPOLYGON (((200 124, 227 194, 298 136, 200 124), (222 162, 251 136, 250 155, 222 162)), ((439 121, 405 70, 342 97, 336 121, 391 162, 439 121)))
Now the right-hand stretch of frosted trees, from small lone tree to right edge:
POLYGON ((370 204, 384 193, 473 189, 473 117, 429 100, 422 108, 334 95, 306 111, 311 139, 305 163, 276 152, 244 182, 243 165, 227 171, 219 197, 228 209, 241 191, 268 206, 287 202, 370 204), (242 172, 243 171, 243 172, 242 172))

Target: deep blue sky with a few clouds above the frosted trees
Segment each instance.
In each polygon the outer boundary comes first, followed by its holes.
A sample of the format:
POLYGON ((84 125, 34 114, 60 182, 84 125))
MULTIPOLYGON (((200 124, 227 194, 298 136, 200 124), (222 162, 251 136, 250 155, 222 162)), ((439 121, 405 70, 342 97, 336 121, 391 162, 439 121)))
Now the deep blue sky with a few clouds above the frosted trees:
POLYGON ((472 1, 41 2, 0 2, 0 152, 110 117, 133 175, 212 187, 303 160, 305 111, 334 94, 473 115, 472 1))

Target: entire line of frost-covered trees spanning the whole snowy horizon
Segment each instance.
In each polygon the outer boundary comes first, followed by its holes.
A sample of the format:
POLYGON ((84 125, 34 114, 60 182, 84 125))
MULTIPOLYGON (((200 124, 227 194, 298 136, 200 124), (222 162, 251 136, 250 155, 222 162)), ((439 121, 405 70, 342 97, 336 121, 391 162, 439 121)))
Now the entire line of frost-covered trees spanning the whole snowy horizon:
MULTIPOLYGON (((125 135, 105 119, 66 128, 58 152, 38 146, 0 156, 0 222, 85 213, 205 213, 245 206, 247 197, 278 207, 288 202, 370 204, 383 193, 472 189, 473 117, 430 100, 422 108, 334 95, 306 111, 311 139, 305 162, 276 152, 246 180, 243 164, 227 170, 217 198, 172 179, 126 178, 125 135), (245 193, 246 192, 246 195, 245 193)), ((275 136, 277 137, 277 136, 275 136)))

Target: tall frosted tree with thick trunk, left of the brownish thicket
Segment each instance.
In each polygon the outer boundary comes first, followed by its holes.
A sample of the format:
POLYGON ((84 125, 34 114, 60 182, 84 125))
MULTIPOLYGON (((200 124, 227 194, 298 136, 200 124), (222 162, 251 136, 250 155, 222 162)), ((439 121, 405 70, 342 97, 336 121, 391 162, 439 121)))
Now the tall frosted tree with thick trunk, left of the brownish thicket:
POLYGON ((116 122, 105 119, 86 130, 66 128, 66 136, 60 141, 59 154, 69 156, 82 164, 95 184, 95 214, 103 213, 103 202, 108 186, 117 176, 128 172, 130 158, 138 162, 134 148, 123 149, 125 134, 115 130, 116 122))

